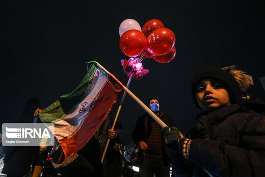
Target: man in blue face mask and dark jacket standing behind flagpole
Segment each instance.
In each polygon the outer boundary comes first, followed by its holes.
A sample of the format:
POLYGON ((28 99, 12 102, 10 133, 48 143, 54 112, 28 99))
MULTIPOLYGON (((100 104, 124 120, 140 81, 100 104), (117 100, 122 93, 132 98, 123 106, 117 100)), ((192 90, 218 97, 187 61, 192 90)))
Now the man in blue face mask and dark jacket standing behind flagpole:
MULTIPOLYGON (((172 119, 160 111, 157 98, 150 98, 149 108, 165 122, 173 127, 172 119)), ((140 177, 141 176, 169 176, 169 150, 164 136, 161 135, 160 125, 147 113, 138 117, 133 131, 133 140, 139 145, 140 177)))

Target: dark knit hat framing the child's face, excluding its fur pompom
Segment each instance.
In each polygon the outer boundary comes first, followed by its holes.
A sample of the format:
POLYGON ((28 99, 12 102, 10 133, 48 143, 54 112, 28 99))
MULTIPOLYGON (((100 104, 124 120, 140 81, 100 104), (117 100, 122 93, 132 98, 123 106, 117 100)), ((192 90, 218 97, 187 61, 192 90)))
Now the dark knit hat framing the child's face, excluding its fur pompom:
POLYGON ((229 95, 230 103, 235 104, 240 102, 242 97, 241 88, 232 74, 223 69, 208 68, 200 71, 192 82, 192 96, 197 107, 199 107, 199 105, 196 99, 196 87, 204 79, 216 79, 221 81, 229 95))

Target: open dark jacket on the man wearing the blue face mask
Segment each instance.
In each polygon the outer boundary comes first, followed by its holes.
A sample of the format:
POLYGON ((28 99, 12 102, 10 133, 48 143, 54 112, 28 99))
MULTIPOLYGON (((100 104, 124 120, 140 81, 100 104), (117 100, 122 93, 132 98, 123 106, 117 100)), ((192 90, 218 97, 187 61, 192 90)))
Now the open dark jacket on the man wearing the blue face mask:
MULTIPOLYGON (((157 116, 160 117, 160 119, 164 123, 166 123, 169 128, 174 126, 172 119, 169 116, 165 115, 163 112, 159 111, 157 113, 157 116)), ((136 143, 136 145, 139 145, 140 141, 146 142, 146 139, 150 136, 151 131, 152 131, 150 121, 152 121, 152 120, 153 120, 153 118, 147 113, 138 117, 135 129, 133 131, 133 140, 136 143)), ((168 147, 166 146, 164 136, 162 136, 162 142, 163 142, 162 150, 163 150, 164 163, 165 163, 165 165, 169 165, 170 164, 169 150, 168 150, 168 147)), ((142 162, 143 151, 140 149, 139 149, 139 156, 140 156, 140 160, 142 162)))

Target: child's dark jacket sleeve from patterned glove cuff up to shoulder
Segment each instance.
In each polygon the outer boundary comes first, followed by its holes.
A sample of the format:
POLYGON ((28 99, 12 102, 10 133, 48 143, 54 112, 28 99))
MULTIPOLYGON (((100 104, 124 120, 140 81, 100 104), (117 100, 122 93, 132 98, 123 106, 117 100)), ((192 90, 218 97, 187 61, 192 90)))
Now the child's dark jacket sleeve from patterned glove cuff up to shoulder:
POLYGON ((209 139, 194 140, 189 160, 213 175, 262 176, 265 174, 265 116, 251 115, 239 136, 237 146, 209 139))

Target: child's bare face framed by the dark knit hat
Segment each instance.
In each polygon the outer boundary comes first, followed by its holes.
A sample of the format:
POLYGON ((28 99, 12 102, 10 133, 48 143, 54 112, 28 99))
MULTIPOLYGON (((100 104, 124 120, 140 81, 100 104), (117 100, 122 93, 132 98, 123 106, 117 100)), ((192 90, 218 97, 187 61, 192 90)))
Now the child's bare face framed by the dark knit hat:
POLYGON ((202 80, 196 87, 196 98, 202 109, 213 110, 229 103, 224 85, 214 79, 202 80))

